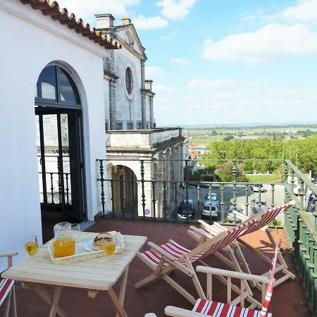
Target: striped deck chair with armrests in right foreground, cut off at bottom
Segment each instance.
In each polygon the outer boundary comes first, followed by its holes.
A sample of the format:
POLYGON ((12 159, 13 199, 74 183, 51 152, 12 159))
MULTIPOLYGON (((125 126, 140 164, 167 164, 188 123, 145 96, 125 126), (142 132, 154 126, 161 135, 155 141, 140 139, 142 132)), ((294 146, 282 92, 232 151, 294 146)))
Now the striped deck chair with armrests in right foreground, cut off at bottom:
MULTIPOLYGON (((207 273, 207 297, 208 299, 198 299, 194 304, 194 308, 192 311, 188 311, 187 309, 180 309, 174 306, 167 306, 165 309, 165 313, 167 316, 175 316, 175 317, 199 317, 199 316, 213 316, 213 317, 272 317, 272 313, 268 313, 268 306, 271 301, 273 286, 274 286, 274 273, 275 266, 278 258, 278 254, 280 251, 280 242, 278 246, 275 248, 275 252, 273 255, 273 260, 271 263, 270 269, 270 277, 263 277, 257 275, 250 275, 246 273, 237 273, 232 271, 225 270, 217 270, 215 268, 206 268, 204 266, 197 266, 197 271, 207 273), (214 302, 212 297, 212 282, 211 275, 222 274, 223 276, 231 278, 239 278, 242 281, 245 280, 258 280, 263 283, 262 287, 262 308, 261 311, 256 311, 254 309, 249 309, 244 307, 243 297, 242 302, 240 302, 240 306, 236 306, 232 304, 230 299, 230 287, 228 285, 228 296, 227 296, 227 304, 214 302), (266 290, 267 288, 267 290, 266 290)), ((241 284, 241 290, 243 291, 244 282, 241 284)), ((154 317, 155 315, 150 315, 154 317)))

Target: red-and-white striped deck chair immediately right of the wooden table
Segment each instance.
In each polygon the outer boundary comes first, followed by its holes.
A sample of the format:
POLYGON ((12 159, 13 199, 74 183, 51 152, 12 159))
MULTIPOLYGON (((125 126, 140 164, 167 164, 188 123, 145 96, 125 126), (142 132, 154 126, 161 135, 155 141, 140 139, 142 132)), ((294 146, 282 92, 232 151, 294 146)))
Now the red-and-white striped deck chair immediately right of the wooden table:
MULTIPOLYGON (((237 225, 235 228, 220 232, 219 235, 205 240, 192 250, 182 247, 173 240, 169 240, 167 243, 161 244, 161 246, 156 245, 153 242, 148 242, 151 249, 144 252, 138 252, 137 256, 146 263, 147 266, 154 271, 154 273, 137 282, 135 287, 138 289, 139 287, 144 287, 149 284, 149 282, 162 278, 175 290, 180 292, 182 296, 188 299, 189 302, 194 304, 196 299, 192 296, 192 294, 189 294, 187 290, 181 287, 169 276, 169 273, 178 269, 180 272, 185 273, 185 275, 192 279, 199 297, 203 299, 206 298, 192 264, 228 246, 239 235, 241 235, 242 231, 247 230, 250 225, 253 225, 258 220, 259 216, 252 220, 245 221, 244 223, 237 225)), ((244 295, 250 302, 254 302, 254 305, 258 304, 255 299, 252 299, 253 294, 251 293, 251 290, 248 290, 248 292, 244 295)))

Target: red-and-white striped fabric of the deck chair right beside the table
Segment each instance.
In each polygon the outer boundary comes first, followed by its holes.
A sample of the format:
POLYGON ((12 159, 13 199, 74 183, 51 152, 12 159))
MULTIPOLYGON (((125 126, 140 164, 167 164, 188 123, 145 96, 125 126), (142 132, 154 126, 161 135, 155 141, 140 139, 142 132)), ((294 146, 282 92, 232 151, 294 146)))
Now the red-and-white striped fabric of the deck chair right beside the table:
MULTIPOLYGON (((205 256, 209 256, 213 252, 216 252, 220 249, 223 249, 224 247, 227 247, 233 240, 235 240, 242 230, 244 230, 248 225, 251 223, 254 223, 255 220, 249 220, 245 223, 242 223, 240 225, 237 225, 237 227, 232 228, 230 230, 227 230, 228 235, 225 236, 222 240, 217 242, 216 244, 212 244, 210 247, 207 247, 203 252, 196 254, 195 256, 192 256, 190 261, 193 263, 205 256)), ((205 242, 206 244, 208 242, 205 242)), ((161 244, 161 248, 164 249, 166 252, 168 252, 170 255, 174 256, 176 259, 180 259, 180 257, 183 254, 187 254, 189 249, 186 249, 185 247, 182 247, 180 244, 177 244, 176 242, 168 242, 166 244, 161 244)), ((154 263, 155 266, 158 266, 161 261, 161 256, 156 253, 154 250, 148 250, 143 252, 144 256, 147 256, 147 258, 154 263)), ((163 267, 168 266, 168 261, 164 261, 163 267)))

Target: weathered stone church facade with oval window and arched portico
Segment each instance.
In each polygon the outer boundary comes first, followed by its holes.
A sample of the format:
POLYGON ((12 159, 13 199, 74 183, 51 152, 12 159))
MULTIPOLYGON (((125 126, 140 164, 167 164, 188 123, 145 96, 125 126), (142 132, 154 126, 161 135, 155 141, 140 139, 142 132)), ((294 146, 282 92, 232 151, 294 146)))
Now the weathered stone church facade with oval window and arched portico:
POLYGON ((185 137, 180 128, 156 128, 153 81, 145 78, 147 56, 130 18, 118 25, 109 13, 96 18, 97 29, 122 46, 104 61, 106 211, 161 217, 163 204, 167 213, 175 209, 185 137))

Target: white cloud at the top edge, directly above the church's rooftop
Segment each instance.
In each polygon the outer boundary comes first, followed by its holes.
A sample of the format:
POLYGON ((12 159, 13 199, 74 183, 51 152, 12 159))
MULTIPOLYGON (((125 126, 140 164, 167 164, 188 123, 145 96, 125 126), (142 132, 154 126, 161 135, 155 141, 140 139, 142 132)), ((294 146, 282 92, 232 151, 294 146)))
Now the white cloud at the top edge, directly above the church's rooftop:
POLYGON ((140 0, 94 0, 94 1, 78 1, 78 0, 58 0, 60 8, 66 7, 68 13, 75 13, 76 18, 94 19, 94 14, 111 13, 115 17, 123 16, 128 13, 129 6, 139 4, 140 0))

